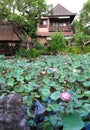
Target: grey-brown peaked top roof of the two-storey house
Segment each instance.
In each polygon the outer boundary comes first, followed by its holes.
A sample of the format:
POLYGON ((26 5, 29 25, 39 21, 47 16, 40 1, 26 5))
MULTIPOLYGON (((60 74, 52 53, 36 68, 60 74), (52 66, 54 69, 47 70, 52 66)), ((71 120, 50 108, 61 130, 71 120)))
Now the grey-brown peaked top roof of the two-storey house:
POLYGON ((72 16, 76 15, 75 13, 70 12, 66 8, 64 8, 61 4, 57 4, 51 11, 52 13, 48 13, 48 16, 72 16))

